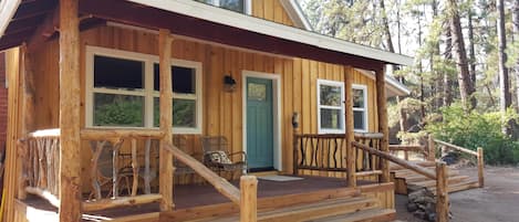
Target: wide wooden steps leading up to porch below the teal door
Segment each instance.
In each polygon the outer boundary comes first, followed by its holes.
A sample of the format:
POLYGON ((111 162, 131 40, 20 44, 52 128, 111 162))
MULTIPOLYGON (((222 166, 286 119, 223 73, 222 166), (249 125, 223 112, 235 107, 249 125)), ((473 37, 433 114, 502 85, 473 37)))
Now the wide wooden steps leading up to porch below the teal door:
MULTIPOLYGON (((299 200, 304 200, 307 193, 298 197, 299 200)), ((277 197, 276 199, 283 199, 272 202, 273 205, 267 205, 264 201, 258 201, 258 221, 260 222, 332 222, 332 221, 392 221, 395 219, 395 211, 383 209, 380 200, 376 198, 369 198, 363 195, 345 195, 329 199, 320 199, 314 201, 289 201, 287 199, 277 197)), ((174 216, 175 218, 175 216, 174 216)), ((160 221, 169 221, 163 220, 160 221)), ((173 218, 172 218, 173 219, 173 218)), ((178 218, 176 218, 178 219, 178 218)), ((187 218, 186 218, 187 219, 187 218)), ((188 221, 188 222, 235 222, 239 221, 239 212, 229 212, 228 214, 207 214, 206 216, 190 218, 188 220, 172 220, 172 221, 188 221)))

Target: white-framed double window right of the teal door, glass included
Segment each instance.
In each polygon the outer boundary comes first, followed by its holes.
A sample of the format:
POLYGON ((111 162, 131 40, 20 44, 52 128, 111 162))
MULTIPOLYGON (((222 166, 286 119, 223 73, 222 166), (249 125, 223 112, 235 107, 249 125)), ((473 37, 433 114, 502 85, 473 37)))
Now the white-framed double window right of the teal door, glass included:
MULTIPOLYGON (((354 129, 367 131, 367 88, 353 85, 354 129)), ((318 80, 319 134, 344 134, 344 83, 318 80)))

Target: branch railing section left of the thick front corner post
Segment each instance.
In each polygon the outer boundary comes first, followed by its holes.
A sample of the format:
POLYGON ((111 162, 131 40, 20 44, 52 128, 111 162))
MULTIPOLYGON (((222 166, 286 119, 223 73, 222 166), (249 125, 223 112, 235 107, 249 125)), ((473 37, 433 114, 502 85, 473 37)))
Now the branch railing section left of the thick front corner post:
POLYGON ((20 190, 60 205, 60 129, 38 130, 19 140, 20 190))

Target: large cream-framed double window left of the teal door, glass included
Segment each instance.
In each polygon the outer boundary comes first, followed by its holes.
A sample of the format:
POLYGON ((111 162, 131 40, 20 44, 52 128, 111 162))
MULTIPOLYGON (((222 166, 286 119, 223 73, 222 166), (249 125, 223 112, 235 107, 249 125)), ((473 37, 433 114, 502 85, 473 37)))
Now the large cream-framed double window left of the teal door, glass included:
MULTIPOLYGON (((86 51, 86 125, 158 127, 158 57, 95 46, 86 51)), ((174 133, 201 134, 201 64, 172 64, 174 133)))

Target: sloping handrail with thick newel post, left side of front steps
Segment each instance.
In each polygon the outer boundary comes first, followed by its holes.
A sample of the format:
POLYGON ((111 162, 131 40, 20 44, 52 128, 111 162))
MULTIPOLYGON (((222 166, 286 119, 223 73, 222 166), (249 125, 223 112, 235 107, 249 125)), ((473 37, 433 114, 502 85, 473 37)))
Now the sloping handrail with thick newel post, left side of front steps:
POLYGON ((257 221, 257 187, 258 180, 253 176, 242 176, 240 178, 240 188, 218 176, 205 165, 193 158, 190 155, 181 151, 175 146, 166 146, 167 151, 172 152, 178 161, 191 168, 196 173, 206 179, 218 192, 227 197, 233 203, 240 207, 241 222, 257 221))

